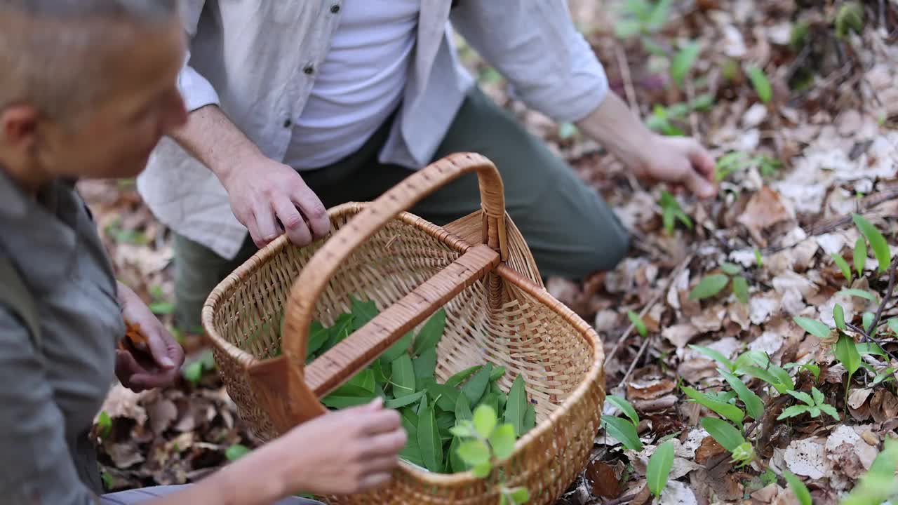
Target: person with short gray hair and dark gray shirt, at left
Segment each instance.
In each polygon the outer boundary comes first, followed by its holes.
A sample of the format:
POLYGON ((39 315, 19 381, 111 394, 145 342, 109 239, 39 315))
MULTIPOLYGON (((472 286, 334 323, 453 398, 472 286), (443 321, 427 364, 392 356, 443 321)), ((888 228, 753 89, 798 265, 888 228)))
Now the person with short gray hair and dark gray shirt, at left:
POLYGON ((316 503, 387 482, 406 434, 375 401, 204 480, 103 493, 89 439, 113 377, 168 385, 183 350, 116 281, 75 181, 134 177, 187 111, 175 0, 0 0, 0 501, 316 503), (137 329, 145 342, 125 337, 137 329), (127 342, 126 342, 127 341, 127 342), (127 344, 127 345, 126 345, 127 344))

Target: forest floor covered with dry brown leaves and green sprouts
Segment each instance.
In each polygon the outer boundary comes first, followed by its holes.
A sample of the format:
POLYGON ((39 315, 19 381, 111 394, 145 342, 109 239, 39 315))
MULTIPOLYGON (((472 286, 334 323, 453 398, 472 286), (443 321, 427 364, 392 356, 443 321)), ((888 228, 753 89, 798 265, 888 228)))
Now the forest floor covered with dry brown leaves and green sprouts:
MULTIPOLYGON (((717 157, 713 201, 637 181, 577 128, 525 110, 461 49, 487 92, 633 234, 617 269, 547 283, 594 323, 608 392, 635 408, 607 402, 603 413, 638 432, 600 431, 559 503, 650 501, 648 458, 666 440, 674 461, 662 503, 797 503, 787 474, 814 503, 839 502, 898 427, 898 4, 694 0, 641 17, 638 5, 652 3, 618 4, 571 9, 612 90, 653 128, 697 137, 717 157), (733 389, 730 372, 747 387, 733 389), (708 418, 735 427, 750 463, 732 461, 708 418)), ((119 279, 171 323, 168 231, 133 182, 81 189, 119 279)), ((255 444, 202 338, 178 336, 189 351, 179 383, 143 394, 115 385, 97 417, 110 490, 196 481, 230 447, 255 444)))

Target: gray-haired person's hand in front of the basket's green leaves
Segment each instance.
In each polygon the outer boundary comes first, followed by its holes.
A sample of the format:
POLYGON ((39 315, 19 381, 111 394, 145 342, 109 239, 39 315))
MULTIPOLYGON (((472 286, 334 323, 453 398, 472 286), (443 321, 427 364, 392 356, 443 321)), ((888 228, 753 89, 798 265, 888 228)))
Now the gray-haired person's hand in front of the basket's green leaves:
POLYGON ((406 437, 399 412, 378 397, 304 422, 276 444, 291 492, 351 494, 390 481, 406 437))

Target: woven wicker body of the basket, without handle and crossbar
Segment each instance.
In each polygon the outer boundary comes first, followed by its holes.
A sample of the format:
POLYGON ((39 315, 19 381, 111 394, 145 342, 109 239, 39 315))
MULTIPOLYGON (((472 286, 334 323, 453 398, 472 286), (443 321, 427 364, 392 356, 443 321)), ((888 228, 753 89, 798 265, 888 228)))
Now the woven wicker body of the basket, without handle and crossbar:
MULTIPOLYGON (((480 156, 473 159, 489 164, 480 156)), ((332 208, 334 236, 376 203, 332 208)), ((314 319, 330 325, 348 311, 350 295, 374 300, 383 310, 427 284, 474 245, 462 237, 477 236, 479 230, 466 231, 465 226, 480 225, 482 220, 472 216, 461 221, 461 227, 453 228, 406 212, 392 217, 340 261, 314 301, 314 319)), ((533 258, 513 224, 506 234, 511 258, 444 306, 446 325, 437 347, 436 377, 443 382, 489 361, 506 368, 499 386, 507 393, 514 378, 523 375, 537 425, 499 466, 506 485, 524 485, 531 492, 530 503, 548 504, 583 469, 593 446, 604 400, 603 351, 591 327, 541 288, 533 258)), ((302 281, 297 279, 322 244, 297 248, 286 237, 279 238, 225 279, 204 308, 204 326, 215 344, 228 393, 261 439, 283 432, 277 428, 283 424, 277 422, 280 414, 274 412, 274 404, 288 404, 291 399, 286 391, 271 391, 254 380, 249 370, 281 349, 281 322, 291 290, 300 288, 295 283, 302 281)), ((353 505, 494 504, 496 474, 480 480, 471 473, 431 474, 401 465, 392 483, 380 490, 319 500, 353 505)))

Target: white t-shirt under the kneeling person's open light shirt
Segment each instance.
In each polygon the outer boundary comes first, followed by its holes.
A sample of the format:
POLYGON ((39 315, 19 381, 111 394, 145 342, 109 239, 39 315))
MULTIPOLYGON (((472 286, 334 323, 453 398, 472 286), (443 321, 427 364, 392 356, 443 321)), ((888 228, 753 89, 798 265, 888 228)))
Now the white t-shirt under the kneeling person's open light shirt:
POLYGON ((284 163, 313 169, 357 151, 405 90, 420 0, 346 0, 284 163))

